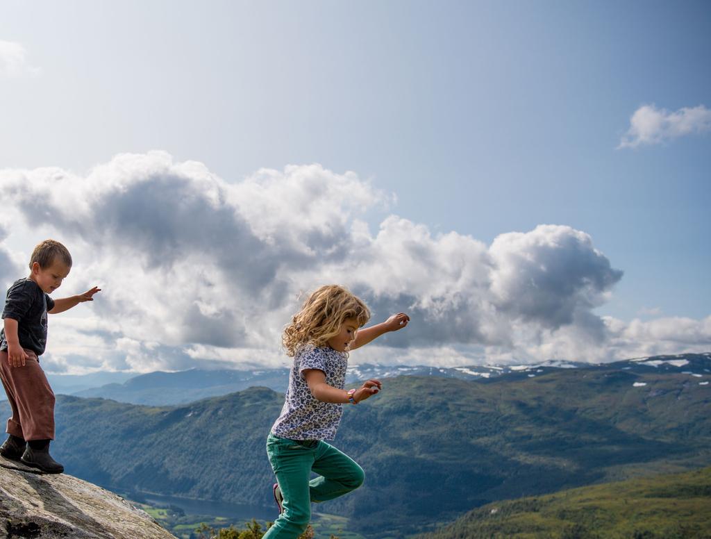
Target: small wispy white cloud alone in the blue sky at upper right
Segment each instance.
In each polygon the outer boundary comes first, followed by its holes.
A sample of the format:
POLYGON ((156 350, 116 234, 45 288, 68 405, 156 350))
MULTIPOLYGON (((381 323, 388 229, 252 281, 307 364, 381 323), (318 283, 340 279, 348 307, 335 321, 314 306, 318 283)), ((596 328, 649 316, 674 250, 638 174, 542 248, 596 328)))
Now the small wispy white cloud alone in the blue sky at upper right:
POLYGON ((630 118, 630 127, 618 149, 644 144, 660 144, 688 134, 711 130, 711 110, 704 105, 683 107, 676 112, 658 109, 654 105, 639 107, 630 118))

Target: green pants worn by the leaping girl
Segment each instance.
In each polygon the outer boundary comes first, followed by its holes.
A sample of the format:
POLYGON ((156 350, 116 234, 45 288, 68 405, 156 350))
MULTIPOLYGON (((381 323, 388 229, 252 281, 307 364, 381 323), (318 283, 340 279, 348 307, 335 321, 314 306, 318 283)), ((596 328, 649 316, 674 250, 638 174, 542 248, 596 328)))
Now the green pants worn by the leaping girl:
POLYGON ((343 496, 365 479, 358 463, 323 440, 302 442, 269 434, 267 455, 284 496, 284 512, 263 539, 296 539, 311 521, 312 501, 343 496), (311 471, 319 477, 309 481, 311 471))

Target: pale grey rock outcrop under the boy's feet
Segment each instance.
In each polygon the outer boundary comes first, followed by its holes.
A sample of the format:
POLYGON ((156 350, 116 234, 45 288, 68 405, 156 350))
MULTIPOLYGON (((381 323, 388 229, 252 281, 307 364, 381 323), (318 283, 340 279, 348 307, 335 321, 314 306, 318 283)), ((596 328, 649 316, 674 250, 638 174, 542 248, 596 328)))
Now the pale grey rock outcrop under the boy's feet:
POLYGON ((171 539, 151 516, 120 496, 0 457, 0 537, 171 539))

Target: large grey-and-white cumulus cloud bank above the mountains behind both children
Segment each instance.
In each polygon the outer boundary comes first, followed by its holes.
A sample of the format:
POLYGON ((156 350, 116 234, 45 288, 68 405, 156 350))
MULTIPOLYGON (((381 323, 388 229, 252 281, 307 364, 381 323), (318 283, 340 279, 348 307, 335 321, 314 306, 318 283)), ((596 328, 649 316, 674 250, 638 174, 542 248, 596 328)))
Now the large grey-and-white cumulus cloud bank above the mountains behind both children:
MULTIPOLYGON (((51 317, 50 372, 284 365, 284 324, 304 293, 331 282, 363 297, 373 321, 412 317, 355 352, 360 363, 604 361, 661 331, 594 313, 622 272, 580 230, 539 225, 491 245, 432 233, 387 215, 392 194, 318 164, 228 182, 151 151, 84 175, 0 171, 0 193, 6 286, 26 271, 9 245, 55 238, 75 266, 54 295, 102 288, 91 304, 51 317), (383 213, 375 231, 364 221, 373 211, 383 213)), ((705 340, 705 329, 665 327, 669 346, 705 340)))

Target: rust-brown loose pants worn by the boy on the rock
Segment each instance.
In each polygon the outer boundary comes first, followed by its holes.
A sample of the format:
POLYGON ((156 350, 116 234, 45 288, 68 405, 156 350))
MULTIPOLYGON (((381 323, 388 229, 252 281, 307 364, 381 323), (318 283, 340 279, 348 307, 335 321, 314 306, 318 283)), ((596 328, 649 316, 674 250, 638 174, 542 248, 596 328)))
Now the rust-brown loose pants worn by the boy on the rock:
POLYGON ((25 365, 12 367, 7 351, 0 351, 0 378, 12 408, 7 432, 28 442, 54 439, 54 392, 37 354, 25 352, 30 356, 25 365))

